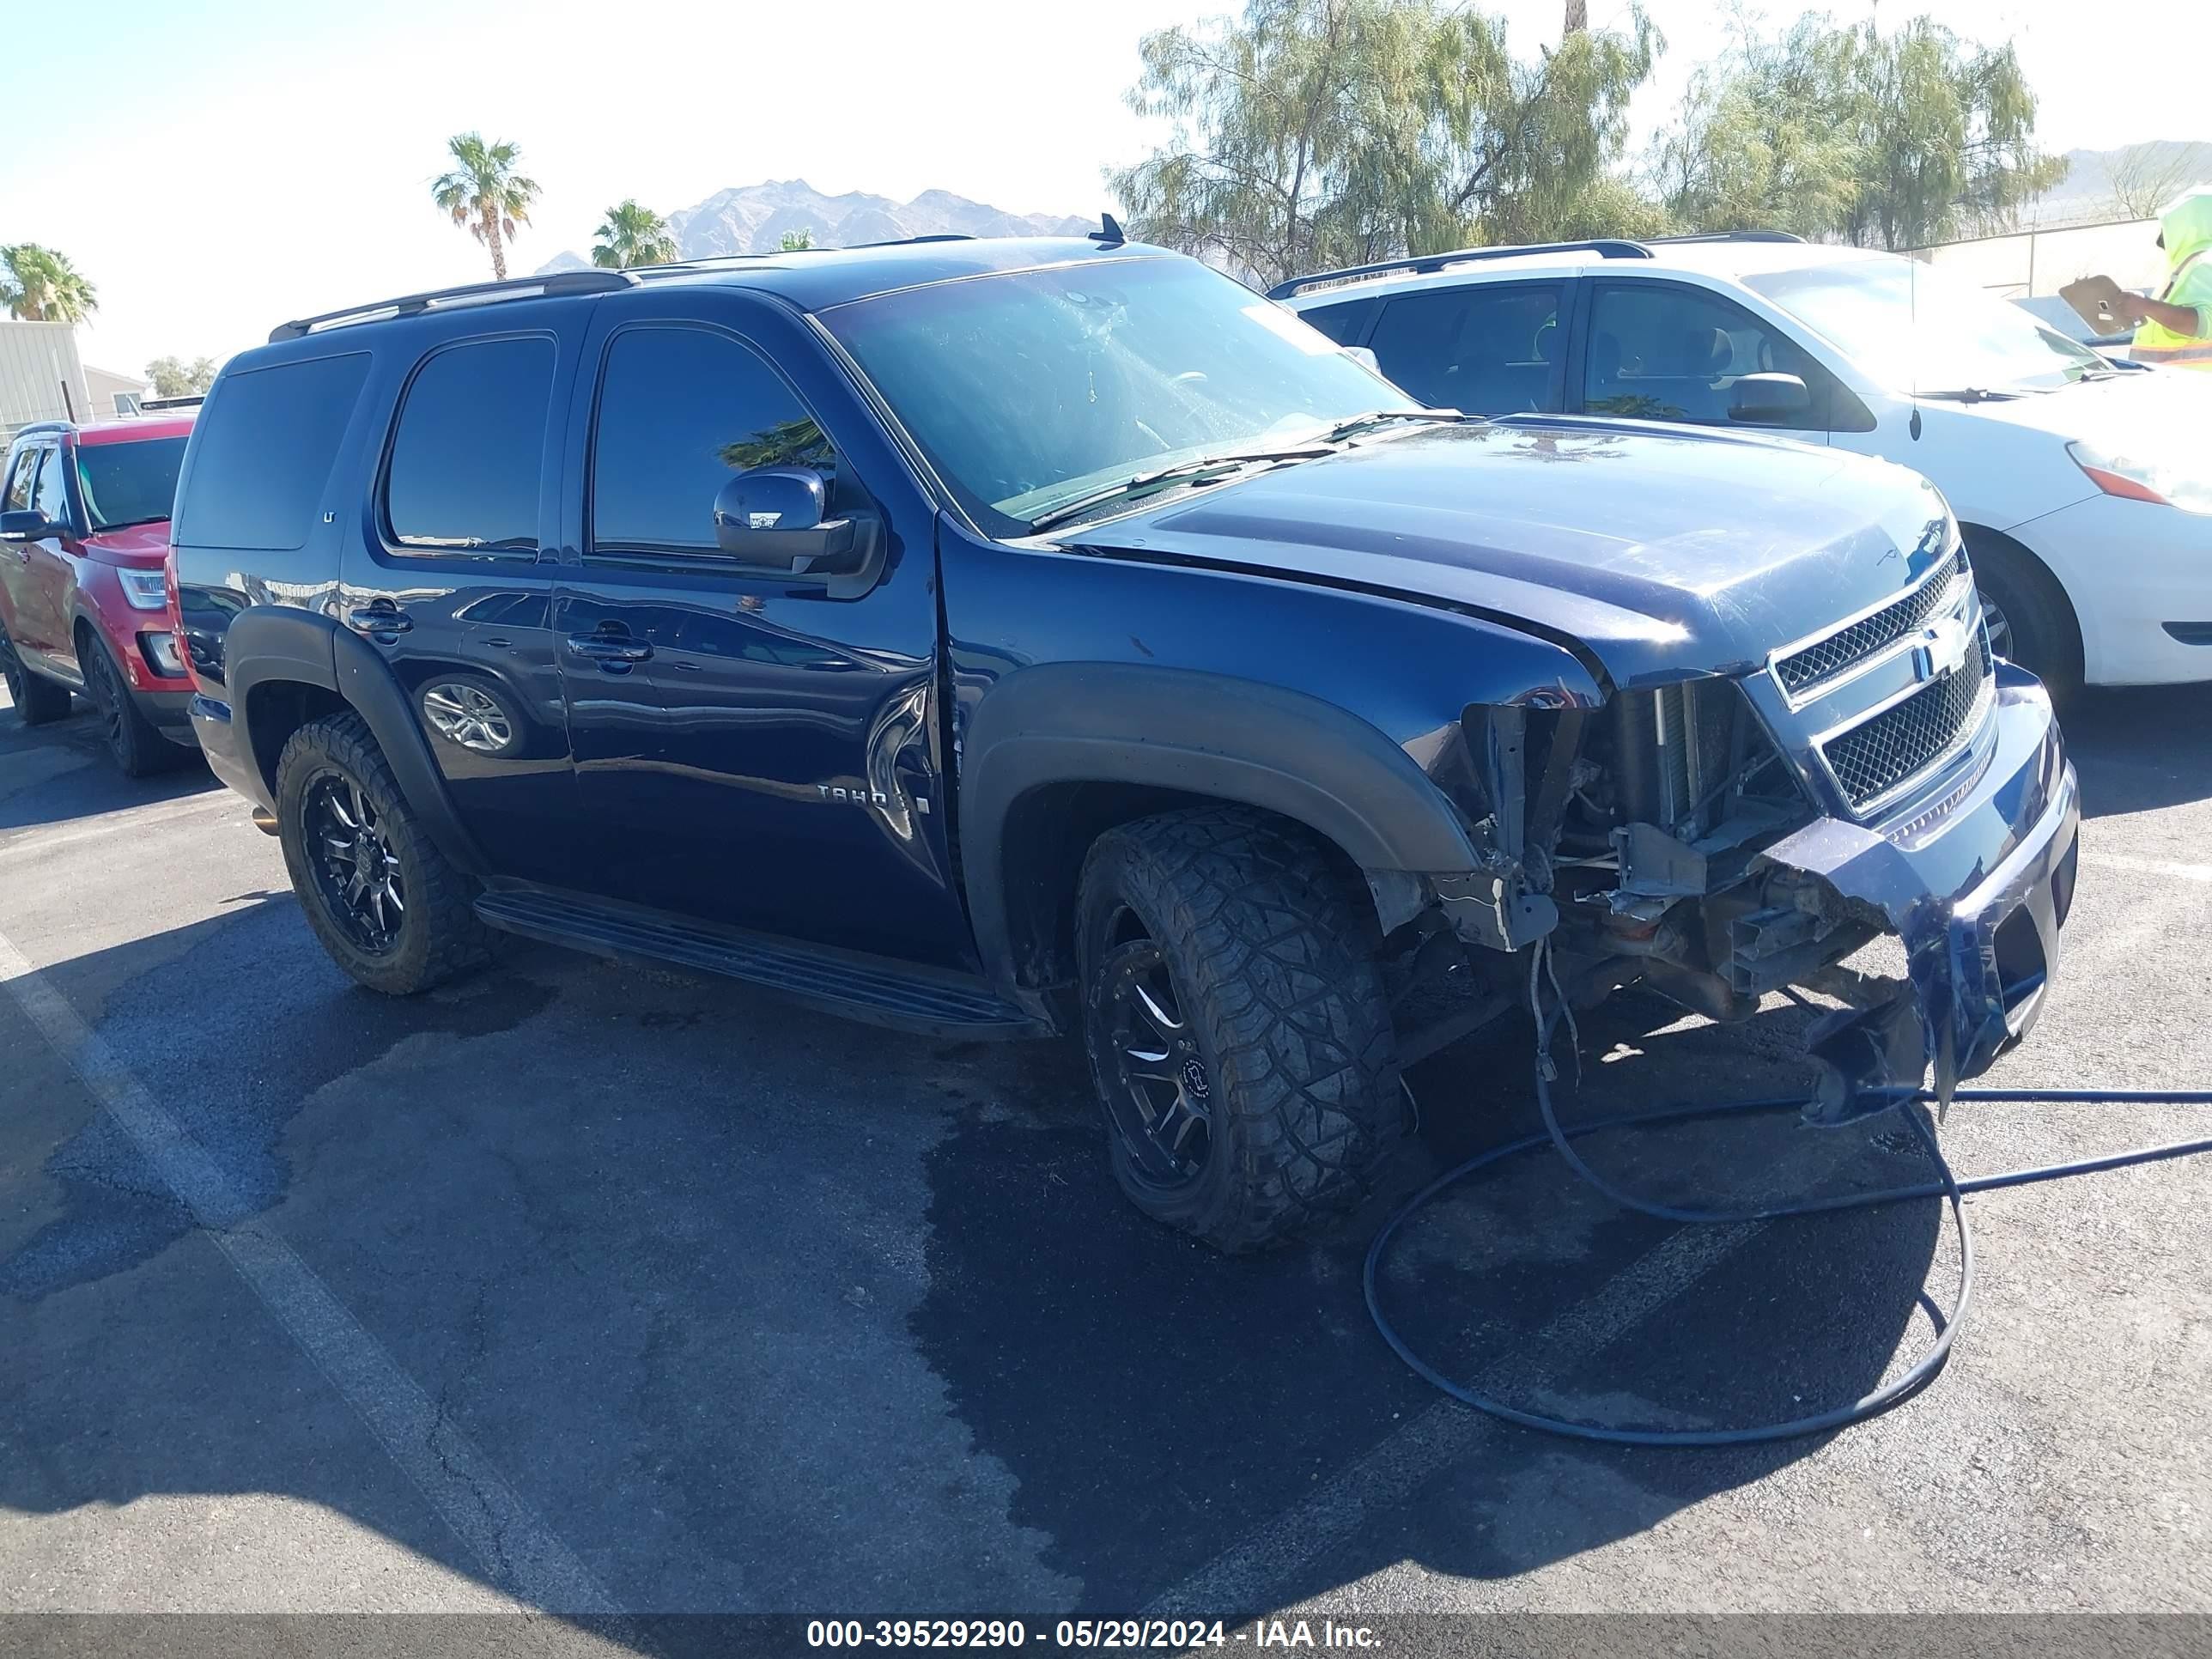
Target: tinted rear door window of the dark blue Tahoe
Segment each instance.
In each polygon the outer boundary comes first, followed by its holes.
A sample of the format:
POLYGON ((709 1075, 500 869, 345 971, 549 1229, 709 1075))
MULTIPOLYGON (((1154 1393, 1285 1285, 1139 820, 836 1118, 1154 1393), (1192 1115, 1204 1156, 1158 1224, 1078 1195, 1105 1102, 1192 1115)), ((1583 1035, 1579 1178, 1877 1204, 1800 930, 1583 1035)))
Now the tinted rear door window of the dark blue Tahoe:
POLYGON ((392 540, 422 551, 538 551, 553 341, 436 352, 407 385, 385 473, 392 540))

